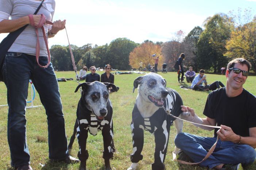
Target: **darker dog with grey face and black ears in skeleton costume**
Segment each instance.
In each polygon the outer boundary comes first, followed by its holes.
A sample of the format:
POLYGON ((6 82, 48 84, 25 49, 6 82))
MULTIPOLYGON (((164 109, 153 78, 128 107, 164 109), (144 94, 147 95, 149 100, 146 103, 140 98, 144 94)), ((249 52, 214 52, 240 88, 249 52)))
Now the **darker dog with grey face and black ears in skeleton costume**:
POLYGON ((75 92, 80 87, 82 88, 82 95, 77 106, 77 119, 68 146, 69 152, 71 152, 75 134, 77 134, 79 144, 78 158, 81 161, 80 170, 85 170, 86 160, 89 157, 88 151, 86 150, 88 131, 95 136, 98 131, 102 130, 104 143, 103 158, 106 170, 110 170, 109 159, 113 157, 115 147, 113 143, 113 109, 109 100, 108 88, 112 87, 115 91, 117 91, 117 88, 111 83, 103 84, 95 81, 79 84, 75 92))

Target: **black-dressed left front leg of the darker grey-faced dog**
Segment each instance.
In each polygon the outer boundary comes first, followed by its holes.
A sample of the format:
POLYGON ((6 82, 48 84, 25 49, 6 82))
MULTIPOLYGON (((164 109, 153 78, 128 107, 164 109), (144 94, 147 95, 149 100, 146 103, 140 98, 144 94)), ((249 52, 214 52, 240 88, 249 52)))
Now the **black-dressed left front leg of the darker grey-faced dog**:
POLYGON ((89 157, 88 151, 86 150, 86 142, 88 138, 88 130, 84 129, 81 125, 79 125, 77 129, 77 139, 79 145, 78 158, 81 161, 80 170, 86 170, 86 160, 89 157))

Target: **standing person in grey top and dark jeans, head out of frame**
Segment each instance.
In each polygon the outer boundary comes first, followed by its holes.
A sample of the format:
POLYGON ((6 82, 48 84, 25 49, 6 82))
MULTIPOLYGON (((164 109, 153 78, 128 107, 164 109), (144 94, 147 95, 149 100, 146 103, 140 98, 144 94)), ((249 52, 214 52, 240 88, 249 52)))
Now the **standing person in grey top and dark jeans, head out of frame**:
MULTIPOLYGON (((38 15, 32 15, 40 3, 42 3, 40 0, 0 0, 0 33, 13 32, 28 24, 6 53, 2 68, 9 106, 7 136, 11 166, 15 169, 32 170, 26 139, 27 120, 25 117, 29 79, 32 80, 46 110, 50 160, 66 163, 79 161, 70 157, 67 151, 61 96, 53 66, 50 63, 46 68, 42 68, 36 62, 35 26, 39 25, 41 19, 44 21, 41 14, 46 16, 45 20, 53 21, 55 9, 54 0, 45 0, 38 15)), ((43 24, 46 37, 54 37, 64 29, 65 22, 66 20, 57 20, 52 26, 43 24)), ((42 29, 38 29, 38 33, 40 44, 38 62, 40 65, 46 66, 48 55, 42 29)))

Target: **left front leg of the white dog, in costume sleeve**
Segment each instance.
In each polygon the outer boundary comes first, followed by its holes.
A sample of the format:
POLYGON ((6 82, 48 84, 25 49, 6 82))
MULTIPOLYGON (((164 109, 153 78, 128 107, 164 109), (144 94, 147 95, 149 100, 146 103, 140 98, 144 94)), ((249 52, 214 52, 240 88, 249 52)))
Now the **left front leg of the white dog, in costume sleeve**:
POLYGON ((141 155, 141 151, 143 149, 144 144, 144 129, 139 128, 139 125, 135 127, 132 122, 131 130, 133 143, 133 153, 131 154, 132 165, 127 170, 136 170, 138 162, 143 158, 143 155, 141 155))

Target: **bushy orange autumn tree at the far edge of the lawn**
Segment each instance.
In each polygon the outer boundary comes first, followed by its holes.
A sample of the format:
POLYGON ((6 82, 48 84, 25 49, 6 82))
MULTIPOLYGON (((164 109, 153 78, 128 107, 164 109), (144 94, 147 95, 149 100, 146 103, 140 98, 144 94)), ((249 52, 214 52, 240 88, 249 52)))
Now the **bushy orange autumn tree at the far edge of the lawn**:
POLYGON ((154 44, 151 41, 145 41, 140 46, 137 46, 129 55, 129 65, 132 68, 139 68, 140 61, 143 62, 143 67, 148 66, 150 63, 152 66, 155 64, 155 57, 152 57, 152 54, 155 54, 159 57, 158 69, 161 68, 164 58, 161 53, 161 46, 154 44))

